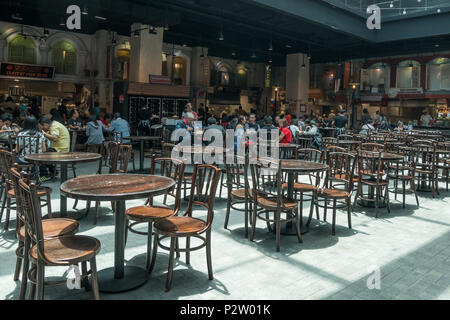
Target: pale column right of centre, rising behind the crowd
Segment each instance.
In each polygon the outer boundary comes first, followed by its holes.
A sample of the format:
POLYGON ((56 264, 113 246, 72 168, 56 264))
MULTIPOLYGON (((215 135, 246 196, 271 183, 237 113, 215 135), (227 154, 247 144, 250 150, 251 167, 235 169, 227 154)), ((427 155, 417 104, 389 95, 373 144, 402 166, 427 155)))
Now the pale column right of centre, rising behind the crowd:
POLYGON ((300 105, 308 103, 309 94, 309 59, 304 53, 287 55, 286 67, 286 98, 294 102, 295 110, 300 113, 300 105))

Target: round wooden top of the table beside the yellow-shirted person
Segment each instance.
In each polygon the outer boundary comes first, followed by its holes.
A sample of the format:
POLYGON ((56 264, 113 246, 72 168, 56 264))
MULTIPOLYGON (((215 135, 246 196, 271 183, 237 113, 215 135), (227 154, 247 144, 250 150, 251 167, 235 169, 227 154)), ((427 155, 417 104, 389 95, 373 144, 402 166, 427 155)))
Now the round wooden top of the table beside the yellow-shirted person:
POLYGON ((29 154, 25 160, 40 163, 76 163, 100 160, 101 154, 88 152, 45 152, 29 154))

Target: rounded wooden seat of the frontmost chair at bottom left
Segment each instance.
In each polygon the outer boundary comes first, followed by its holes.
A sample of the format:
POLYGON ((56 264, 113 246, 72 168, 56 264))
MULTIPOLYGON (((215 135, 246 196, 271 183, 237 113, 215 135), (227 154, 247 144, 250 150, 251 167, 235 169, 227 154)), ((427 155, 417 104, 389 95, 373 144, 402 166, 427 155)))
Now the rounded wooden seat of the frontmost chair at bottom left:
MULTIPOLYGON (((100 241, 88 236, 64 236, 44 240, 44 256, 51 264, 72 265, 89 260, 100 251, 100 241)), ((30 257, 38 258, 37 246, 30 250, 30 257)))

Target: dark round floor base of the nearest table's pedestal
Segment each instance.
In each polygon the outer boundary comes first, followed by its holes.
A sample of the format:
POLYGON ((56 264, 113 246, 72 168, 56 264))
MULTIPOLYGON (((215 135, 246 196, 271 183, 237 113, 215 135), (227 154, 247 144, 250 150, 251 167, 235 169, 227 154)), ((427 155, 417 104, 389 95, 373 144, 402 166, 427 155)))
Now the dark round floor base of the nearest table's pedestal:
POLYGON ((147 270, 133 267, 124 267, 124 277, 114 278, 114 268, 98 272, 98 285, 101 292, 120 293, 130 291, 144 285, 148 281, 147 270))

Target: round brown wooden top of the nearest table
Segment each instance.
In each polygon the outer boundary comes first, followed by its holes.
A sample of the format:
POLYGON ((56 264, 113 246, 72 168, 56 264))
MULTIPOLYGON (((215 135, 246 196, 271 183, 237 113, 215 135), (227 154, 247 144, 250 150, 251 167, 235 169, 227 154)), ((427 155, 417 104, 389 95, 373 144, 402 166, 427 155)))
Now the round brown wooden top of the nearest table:
POLYGON ((86 175, 64 182, 61 193, 79 200, 117 201, 142 199, 164 194, 175 180, 139 174, 86 175))

